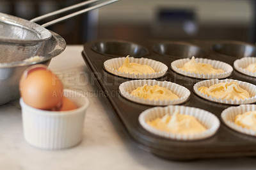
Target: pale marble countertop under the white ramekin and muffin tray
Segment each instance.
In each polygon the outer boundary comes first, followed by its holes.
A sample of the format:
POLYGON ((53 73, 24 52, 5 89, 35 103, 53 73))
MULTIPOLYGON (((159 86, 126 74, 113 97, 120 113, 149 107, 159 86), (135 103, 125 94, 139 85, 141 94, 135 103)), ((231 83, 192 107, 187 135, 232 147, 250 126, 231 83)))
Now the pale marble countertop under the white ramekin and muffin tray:
POLYGON ((255 169, 255 157, 214 158, 175 162, 138 148, 122 123, 98 95, 81 56, 82 45, 68 45, 49 68, 65 88, 83 91, 90 106, 84 120, 83 141, 65 150, 39 150, 22 133, 19 100, 0 106, 0 169, 255 169))

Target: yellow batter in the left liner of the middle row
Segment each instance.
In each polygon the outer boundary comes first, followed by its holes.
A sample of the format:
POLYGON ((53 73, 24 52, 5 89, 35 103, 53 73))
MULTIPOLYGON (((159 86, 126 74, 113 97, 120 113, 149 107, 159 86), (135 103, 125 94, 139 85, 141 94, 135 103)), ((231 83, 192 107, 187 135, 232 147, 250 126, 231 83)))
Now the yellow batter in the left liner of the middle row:
POLYGON ((161 86, 148 86, 145 84, 142 87, 134 89, 131 92, 134 97, 140 97, 149 100, 175 100, 179 97, 175 95, 170 89, 163 88, 161 86))

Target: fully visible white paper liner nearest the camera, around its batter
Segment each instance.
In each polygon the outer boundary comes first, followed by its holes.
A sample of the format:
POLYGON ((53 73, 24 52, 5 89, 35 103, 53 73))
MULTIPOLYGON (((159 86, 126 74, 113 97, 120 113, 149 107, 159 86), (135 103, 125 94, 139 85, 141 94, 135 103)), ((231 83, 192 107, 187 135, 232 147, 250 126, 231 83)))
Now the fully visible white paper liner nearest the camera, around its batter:
POLYGON ((205 139, 214 135, 220 127, 220 120, 211 112, 204 111, 195 107, 186 107, 182 105, 169 105, 167 107, 153 107, 141 112, 139 116, 140 125, 151 132, 152 134, 159 135, 170 139, 177 139, 182 141, 191 141, 198 139, 205 139), (157 130, 154 127, 148 125, 147 121, 155 120, 156 118, 163 118, 165 114, 173 114, 173 112, 179 111, 180 114, 188 114, 194 116, 207 130, 198 134, 173 134, 157 130))

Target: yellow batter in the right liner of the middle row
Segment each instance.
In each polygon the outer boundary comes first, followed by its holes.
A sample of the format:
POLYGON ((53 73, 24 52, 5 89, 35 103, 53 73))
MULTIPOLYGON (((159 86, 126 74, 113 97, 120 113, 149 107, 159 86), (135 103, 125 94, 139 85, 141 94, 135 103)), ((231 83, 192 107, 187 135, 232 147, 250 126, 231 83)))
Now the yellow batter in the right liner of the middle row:
POLYGON ((227 100, 243 100, 250 98, 250 94, 245 89, 241 88, 237 82, 220 82, 207 87, 200 87, 198 90, 205 95, 227 99, 227 100))

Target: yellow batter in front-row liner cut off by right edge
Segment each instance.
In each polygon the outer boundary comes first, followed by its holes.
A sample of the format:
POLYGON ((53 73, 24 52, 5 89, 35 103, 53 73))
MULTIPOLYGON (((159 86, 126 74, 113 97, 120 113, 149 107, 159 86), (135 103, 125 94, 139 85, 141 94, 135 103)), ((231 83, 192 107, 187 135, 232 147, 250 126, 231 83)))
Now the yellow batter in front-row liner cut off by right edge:
POLYGON ((244 128, 256 130, 256 111, 238 114, 235 118, 235 124, 244 128))

